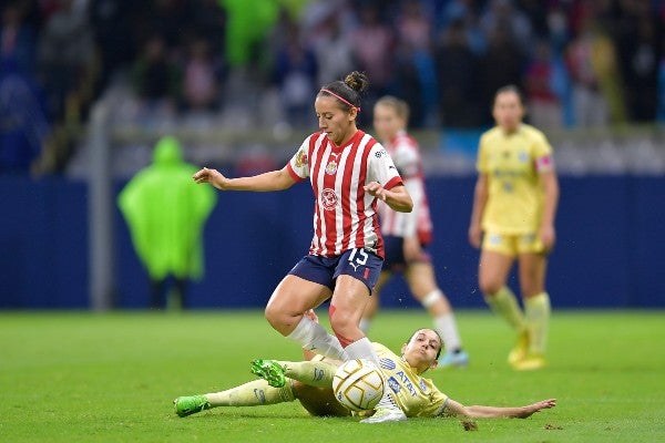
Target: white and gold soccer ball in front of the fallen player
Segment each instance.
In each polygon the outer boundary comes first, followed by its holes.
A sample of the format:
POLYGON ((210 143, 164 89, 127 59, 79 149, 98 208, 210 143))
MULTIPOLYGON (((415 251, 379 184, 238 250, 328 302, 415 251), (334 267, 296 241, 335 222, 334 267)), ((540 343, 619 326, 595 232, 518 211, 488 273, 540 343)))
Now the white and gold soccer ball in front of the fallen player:
POLYGON ((349 360, 335 371, 332 392, 351 411, 367 411, 383 396, 383 375, 369 360, 349 360))

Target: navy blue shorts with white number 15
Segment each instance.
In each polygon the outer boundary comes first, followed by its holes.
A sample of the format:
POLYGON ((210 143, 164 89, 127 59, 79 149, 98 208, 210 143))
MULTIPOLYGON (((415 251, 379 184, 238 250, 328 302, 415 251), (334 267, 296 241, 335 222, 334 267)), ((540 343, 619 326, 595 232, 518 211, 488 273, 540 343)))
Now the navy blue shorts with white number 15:
POLYGON ((383 260, 362 248, 354 248, 337 257, 305 256, 288 272, 315 284, 324 285, 335 291, 335 279, 340 275, 351 276, 374 290, 383 260))

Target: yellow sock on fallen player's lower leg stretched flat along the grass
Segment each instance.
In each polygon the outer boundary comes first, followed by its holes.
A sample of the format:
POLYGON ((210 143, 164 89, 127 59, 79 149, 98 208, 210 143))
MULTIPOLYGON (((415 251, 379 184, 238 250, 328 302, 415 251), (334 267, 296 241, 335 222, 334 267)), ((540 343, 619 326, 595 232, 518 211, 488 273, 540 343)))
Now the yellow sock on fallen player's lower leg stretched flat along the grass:
POLYGON ((211 406, 259 406, 294 401, 290 383, 273 388, 265 380, 254 380, 222 392, 205 394, 211 406))

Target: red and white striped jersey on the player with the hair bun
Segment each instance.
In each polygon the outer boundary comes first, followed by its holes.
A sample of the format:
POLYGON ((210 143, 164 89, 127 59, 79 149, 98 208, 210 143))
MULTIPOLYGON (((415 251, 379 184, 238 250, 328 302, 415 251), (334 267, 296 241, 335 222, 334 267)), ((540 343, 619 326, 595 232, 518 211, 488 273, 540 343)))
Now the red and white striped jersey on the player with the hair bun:
POLYGON ((352 248, 366 248, 383 258, 383 239, 377 216, 377 198, 364 186, 378 182, 386 189, 402 179, 383 146, 358 131, 342 146, 325 133, 308 136, 287 164, 291 177, 307 177, 314 189, 314 238, 310 255, 335 257, 352 248))

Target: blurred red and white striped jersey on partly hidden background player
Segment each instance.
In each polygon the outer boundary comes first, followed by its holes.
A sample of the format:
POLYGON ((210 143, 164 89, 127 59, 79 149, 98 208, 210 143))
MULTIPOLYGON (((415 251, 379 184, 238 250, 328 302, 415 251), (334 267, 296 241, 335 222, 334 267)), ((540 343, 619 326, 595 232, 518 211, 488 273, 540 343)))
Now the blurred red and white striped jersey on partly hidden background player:
POLYGON ((381 234, 395 237, 418 236, 420 244, 427 245, 432 239, 432 220, 429 203, 424 188, 422 159, 418 142, 406 131, 400 131, 397 136, 386 145, 386 151, 395 162, 401 174, 405 187, 413 200, 413 210, 398 213, 383 202, 379 202, 378 212, 381 224, 381 234))

